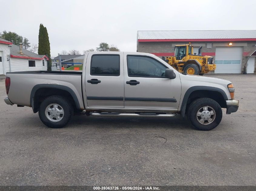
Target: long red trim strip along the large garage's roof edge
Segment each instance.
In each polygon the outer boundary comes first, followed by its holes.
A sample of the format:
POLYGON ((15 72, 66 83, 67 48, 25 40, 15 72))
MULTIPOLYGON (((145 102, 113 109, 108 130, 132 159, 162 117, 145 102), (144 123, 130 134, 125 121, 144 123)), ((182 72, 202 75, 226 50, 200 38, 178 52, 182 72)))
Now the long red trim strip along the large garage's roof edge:
POLYGON ((256 38, 238 39, 138 39, 138 42, 211 42, 211 41, 256 41, 256 38))

